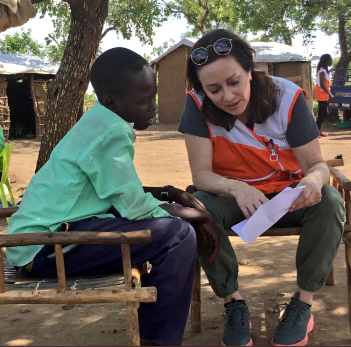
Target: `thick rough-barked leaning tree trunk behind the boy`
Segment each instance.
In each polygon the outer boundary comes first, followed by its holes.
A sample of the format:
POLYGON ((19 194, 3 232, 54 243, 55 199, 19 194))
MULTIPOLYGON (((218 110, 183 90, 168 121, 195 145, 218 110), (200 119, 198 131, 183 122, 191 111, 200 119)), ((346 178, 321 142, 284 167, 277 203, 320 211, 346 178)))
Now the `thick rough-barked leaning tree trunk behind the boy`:
POLYGON ((109 0, 65 1, 71 8, 71 27, 60 68, 48 90, 46 126, 36 172, 77 122, 108 13, 109 0))

